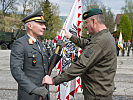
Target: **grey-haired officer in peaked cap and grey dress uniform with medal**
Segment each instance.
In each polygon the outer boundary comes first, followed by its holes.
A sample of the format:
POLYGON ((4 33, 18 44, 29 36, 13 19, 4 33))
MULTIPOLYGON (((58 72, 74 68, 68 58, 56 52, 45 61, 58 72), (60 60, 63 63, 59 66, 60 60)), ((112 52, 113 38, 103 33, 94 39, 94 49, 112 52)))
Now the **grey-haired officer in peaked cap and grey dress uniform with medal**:
POLYGON ((18 83, 18 100, 49 100, 48 88, 42 85, 48 72, 49 57, 37 39, 46 29, 43 11, 35 11, 22 21, 26 34, 13 43, 10 55, 11 73, 18 83))

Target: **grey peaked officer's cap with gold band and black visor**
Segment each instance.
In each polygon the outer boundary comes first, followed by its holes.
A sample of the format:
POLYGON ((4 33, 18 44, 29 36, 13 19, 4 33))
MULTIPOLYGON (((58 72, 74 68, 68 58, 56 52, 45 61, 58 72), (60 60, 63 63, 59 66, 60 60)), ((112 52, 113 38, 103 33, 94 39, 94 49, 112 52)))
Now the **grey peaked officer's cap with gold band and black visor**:
POLYGON ((44 13, 42 10, 35 11, 34 13, 26 16, 24 19, 22 19, 22 22, 27 23, 31 21, 36 21, 40 23, 45 23, 46 21, 44 20, 44 13))

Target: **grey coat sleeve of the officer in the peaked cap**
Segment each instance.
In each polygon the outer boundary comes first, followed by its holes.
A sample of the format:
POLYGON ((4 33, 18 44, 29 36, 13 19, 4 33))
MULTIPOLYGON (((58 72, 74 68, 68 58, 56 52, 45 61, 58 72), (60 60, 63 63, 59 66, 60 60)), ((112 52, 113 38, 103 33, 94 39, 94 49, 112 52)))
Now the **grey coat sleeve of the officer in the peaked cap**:
POLYGON ((17 41, 14 42, 10 54, 10 70, 12 76, 27 93, 30 93, 37 86, 23 72, 24 64, 24 45, 17 41))

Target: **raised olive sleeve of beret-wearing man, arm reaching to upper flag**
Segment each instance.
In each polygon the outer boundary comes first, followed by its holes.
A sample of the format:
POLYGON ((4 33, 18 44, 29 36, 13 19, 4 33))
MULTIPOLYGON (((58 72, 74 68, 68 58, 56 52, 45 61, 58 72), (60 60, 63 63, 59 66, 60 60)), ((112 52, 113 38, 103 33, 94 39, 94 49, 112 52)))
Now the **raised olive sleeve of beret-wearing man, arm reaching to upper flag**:
POLYGON ((89 40, 78 38, 77 36, 74 36, 74 35, 72 35, 72 37, 70 38, 70 41, 72 41, 74 44, 76 44, 78 47, 82 49, 89 43, 89 40))

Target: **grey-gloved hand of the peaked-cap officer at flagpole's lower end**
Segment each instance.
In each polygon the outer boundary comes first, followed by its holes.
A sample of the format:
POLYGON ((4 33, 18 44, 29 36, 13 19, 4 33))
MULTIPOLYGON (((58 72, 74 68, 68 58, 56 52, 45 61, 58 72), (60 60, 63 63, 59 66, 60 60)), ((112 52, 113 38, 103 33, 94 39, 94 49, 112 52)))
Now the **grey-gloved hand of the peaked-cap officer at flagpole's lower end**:
POLYGON ((31 93, 39 95, 43 97, 43 99, 46 97, 48 94, 48 90, 43 86, 43 87, 37 87, 35 88, 31 93))

